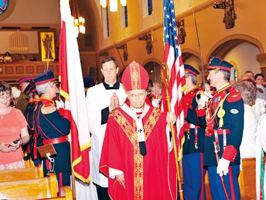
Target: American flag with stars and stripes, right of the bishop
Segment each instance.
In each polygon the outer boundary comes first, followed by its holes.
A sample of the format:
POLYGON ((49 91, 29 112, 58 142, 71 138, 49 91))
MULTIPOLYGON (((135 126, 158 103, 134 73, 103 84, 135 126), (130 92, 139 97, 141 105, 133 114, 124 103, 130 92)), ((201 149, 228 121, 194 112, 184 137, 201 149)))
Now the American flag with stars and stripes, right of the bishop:
MULTIPOLYGON (((175 22, 174 3, 173 0, 164 0, 164 39, 165 51, 164 62, 169 68, 169 96, 171 110, 177 117, 176 129, 179 139, 179 158, 182 158, 182 145, 184 143, 184 112, 182 108, 182 91, 186 87, 185 71, 181 48, 178 41, 177 27, 175 22)), ((164 104, 166 105, 166 104, 164 104)))

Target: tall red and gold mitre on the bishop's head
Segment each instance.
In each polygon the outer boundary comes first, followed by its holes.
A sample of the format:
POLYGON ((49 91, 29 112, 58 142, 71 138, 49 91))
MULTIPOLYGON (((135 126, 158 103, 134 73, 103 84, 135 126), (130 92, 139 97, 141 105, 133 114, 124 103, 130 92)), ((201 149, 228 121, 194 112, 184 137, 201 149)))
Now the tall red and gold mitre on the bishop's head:
POLYGON ((149 75, 144 67, 133 61, 127 66, 122 76, 122 83, 127 91, 147 89, 149 75))

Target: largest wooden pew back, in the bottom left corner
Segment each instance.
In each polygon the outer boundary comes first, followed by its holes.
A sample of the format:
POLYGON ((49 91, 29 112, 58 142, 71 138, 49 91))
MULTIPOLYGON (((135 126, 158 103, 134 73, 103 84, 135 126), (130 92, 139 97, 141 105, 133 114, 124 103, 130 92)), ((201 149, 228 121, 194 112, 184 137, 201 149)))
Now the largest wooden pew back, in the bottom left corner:
POLYGON ((27 180, 0 182, 0 193, 11 200, 38 200, 57 197, 56 174, 27 180))

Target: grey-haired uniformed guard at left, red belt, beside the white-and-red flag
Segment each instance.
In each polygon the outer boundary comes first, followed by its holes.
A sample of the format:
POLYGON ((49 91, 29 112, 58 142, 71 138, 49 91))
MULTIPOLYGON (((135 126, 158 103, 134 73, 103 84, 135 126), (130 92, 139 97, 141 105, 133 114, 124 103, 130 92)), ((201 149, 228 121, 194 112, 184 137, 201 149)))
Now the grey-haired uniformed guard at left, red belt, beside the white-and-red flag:
POLYGON ((42 139, 43 144, 53 144, 57 153, 51 156, 54 162, 48 159, 43 162, 43 172, 46 176, 49 170, 55 171, 60 194, 61 186, 70 186, 70 144, 67 141, 70 122, 60 114, 69 114, 70 111, 67 109, 70 109, 70 105, 68 105, 66 110, 60 108, 60 113, 56 109, 55 102, 52 99, 56 96, 58 88, 53 83, 55 81, 55 75, 52 70, 36 76, 33 80, 36 85, 36 90, 40 95, 40 101, 34 114, 35 129, 42 139))

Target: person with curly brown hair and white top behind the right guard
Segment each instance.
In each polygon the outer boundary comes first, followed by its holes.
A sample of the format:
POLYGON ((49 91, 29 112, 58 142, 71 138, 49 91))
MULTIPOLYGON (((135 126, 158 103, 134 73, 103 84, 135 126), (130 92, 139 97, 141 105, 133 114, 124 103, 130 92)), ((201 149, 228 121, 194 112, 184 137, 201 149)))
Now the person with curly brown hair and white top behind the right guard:
POLYGON ((257 118, 253 112, 252 105, 256 100, 257 88, 251 82, 239 81, 233 86, 241 93, 244 101, 244 131, 240 145, 240 157, 255 158, 256 157, 256 130, 257 118))

